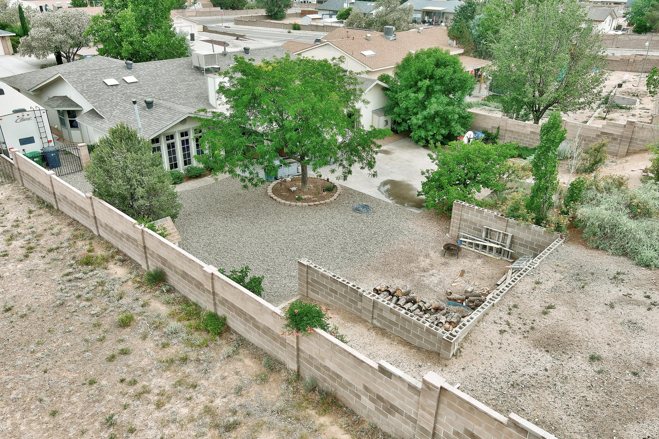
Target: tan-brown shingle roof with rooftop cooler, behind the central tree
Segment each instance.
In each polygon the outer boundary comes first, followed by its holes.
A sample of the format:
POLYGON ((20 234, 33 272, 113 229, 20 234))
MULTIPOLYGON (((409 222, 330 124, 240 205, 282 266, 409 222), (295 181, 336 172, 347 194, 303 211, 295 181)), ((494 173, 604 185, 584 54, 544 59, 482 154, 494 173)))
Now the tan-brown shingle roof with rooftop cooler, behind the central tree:
POLYGON ((446 41, 449 38, 447 30, 443 26, 425 28, 422 34, 419 34, 416 29, 397 32, 396 39, 392 41, 384 38, 382 32, 353 28, 339 28, 329 32, 322 39, 329 41, 332 45, 373 70, 394 66, 413 50, 442 47, 442 49, 450 50, 453 55, 463 52, 463 49, 459 47, 449 47, 447 45, 446 41), (364 38, 366 34, 370 34, 370 40, 364 38), (367 50, 374 51, 375 55, 370 57, 362 55, 361 52, 367 50))

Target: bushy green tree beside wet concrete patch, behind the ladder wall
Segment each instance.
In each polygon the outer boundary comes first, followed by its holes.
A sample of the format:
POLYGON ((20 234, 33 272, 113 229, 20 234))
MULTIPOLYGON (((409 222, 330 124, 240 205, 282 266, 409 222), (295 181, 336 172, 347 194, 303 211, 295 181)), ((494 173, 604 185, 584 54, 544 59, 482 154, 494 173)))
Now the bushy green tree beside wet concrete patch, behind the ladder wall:
POLYGON ((500 182, 501 177, 510 171, 507 160, 514 155, 509 143, 456 141, 447 145, 447 151, 438 147, 428 154, 437 168, 421 171, 426 181, 421 183, 418 195, 426 197, 426 209, 450 217, 453 201, 477 203, 475 195, 483 188, 502 190, 505 182, 500 182))

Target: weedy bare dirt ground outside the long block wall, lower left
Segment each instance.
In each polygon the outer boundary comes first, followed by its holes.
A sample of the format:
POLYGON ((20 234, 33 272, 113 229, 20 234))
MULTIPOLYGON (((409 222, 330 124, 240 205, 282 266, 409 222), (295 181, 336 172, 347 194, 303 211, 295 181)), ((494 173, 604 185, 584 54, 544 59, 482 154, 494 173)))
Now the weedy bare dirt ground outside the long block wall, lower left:
POLYGON ((28 190, 0 197, 0 437, 385 437, 28 190))

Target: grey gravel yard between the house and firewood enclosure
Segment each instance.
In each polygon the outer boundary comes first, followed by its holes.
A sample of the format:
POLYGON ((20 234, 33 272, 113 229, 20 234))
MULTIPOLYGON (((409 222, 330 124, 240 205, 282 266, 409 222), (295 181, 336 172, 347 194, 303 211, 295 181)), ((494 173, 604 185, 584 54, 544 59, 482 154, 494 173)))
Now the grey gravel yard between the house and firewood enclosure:
POLYGON ((463 251, 444 257, 449 220, 420 213, 343 186, 328 206, 290 207, 270 199, 266 187, 241 189, 229 178, 181 193, 179 244, 222 269, 243 265, 264 275, 265 299, 279 305, 297 295, 297 259, 307 258, 365 288, 378 282, 409 284, 423 297, 445 299, 461 269, 465 282, 493 284, 505 261, 463 251), (373 209, 352 211, 357 203, 373 209))

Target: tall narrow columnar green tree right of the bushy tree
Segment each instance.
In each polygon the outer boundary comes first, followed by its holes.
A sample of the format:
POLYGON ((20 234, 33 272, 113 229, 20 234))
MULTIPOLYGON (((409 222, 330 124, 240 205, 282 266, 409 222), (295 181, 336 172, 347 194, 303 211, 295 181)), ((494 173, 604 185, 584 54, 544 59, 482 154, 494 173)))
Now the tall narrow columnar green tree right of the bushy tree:
POLYGON ((531 160, 533 187, 526 207, 540 225, 548 217, 554 205, 553 197, 558 189, 558 146, 565 140, 567 130, 561 128, 561 113, 553 111, 549 120, 540 127, 540 145, 531 160))

